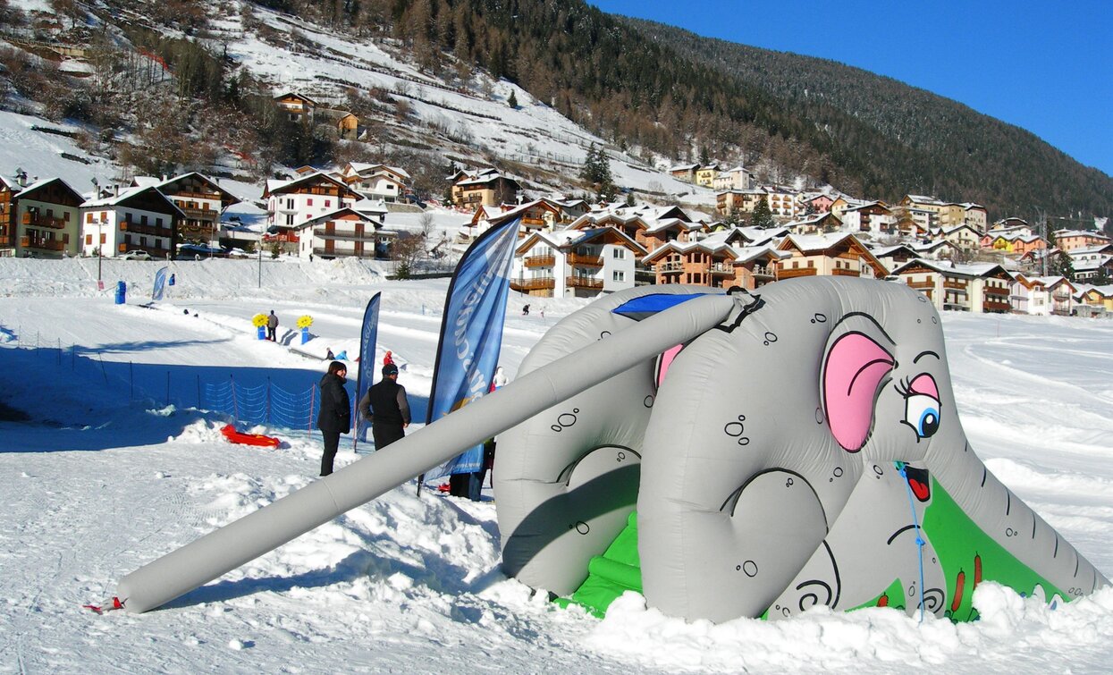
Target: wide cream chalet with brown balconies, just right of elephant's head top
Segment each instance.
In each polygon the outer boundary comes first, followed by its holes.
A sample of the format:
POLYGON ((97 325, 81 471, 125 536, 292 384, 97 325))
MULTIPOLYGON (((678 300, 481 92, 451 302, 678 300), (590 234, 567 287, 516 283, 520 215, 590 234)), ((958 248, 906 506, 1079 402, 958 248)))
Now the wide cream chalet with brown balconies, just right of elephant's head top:
POLYGON ((1001 265, 953 265, 917 258, 893 271, 908 286, 923 293, 936 310, 1004 313, 1013 277, 1001 265))

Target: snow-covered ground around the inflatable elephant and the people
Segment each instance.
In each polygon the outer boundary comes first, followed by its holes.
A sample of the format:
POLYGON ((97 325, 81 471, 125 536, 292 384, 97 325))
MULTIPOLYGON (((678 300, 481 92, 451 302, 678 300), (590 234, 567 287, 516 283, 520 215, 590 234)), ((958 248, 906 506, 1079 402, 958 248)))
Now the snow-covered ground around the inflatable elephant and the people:
MULTIPOLYGON (((499 569, 494 495, 415 496, 413 482, 167 607, 97 615, 139 566, 308 485, 319 438, 263 428, 278 449, 230 446, 189 403, 200 378, 312 387, 326 346, 354 353, 383 293, 380 353, 429 394, 446 281, 387 282, 354 261, 158 263, 0 258, 0 672, 947 673, 1107 672, 1113 590, 1051 610, 983 584, 982 620, 923 625, 890 609, 795 620, 684 623, 628 595, 605 619, 562 610, 499 569), (112 303, 116 280, 126 305, 112 303), (279 336, 302 314, 299 354, 279 336), (168 385, 171 404, 167 405, 168 385), (29 419, 16 421, 18 412, 29 419)), ((509 374, 583 301, 512 296, 509 374), (545 317, 539 316, 539 309, 545 317)), ((1113 574, 1113 322, 947 313, 948 359, 973 448, 1106 575, 1113 574)), ((292 335, 290 335, 292 336, 292 335)), ((292 345, 297 346, 297 340, 292 345)), ((411 427, 411 432, 416 425, 411 427)), ((356 461, 342 446, 337 464, 356 461)))

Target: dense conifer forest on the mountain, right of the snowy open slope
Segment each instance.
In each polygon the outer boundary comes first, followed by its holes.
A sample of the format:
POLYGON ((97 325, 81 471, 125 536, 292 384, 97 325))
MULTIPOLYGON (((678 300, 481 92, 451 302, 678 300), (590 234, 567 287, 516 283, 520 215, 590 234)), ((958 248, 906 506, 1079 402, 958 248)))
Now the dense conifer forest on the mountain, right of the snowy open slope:
POLYGON ((1113 214, 1113 178, 1102 172, 1018 127, 856 68, 700 38, 579 0, 388 7, 396 35, 430 67, 439 51, 452 52, 623 146, 677 160, 768 158, 850 194, 930 194, 998 217, 1034 217, 1037 207, 1081 221, 1113 214))

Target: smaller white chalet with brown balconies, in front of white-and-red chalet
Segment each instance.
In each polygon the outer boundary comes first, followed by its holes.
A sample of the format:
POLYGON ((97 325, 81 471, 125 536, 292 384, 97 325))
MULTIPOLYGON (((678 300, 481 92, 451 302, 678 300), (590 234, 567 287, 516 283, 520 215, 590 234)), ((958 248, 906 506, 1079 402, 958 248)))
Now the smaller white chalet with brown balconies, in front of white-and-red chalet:
POLYGON ((297 255, 387 258, 397 232, 383 228, 385 216, 382 203, 364 200, 309 218, 294 227, 297 255))

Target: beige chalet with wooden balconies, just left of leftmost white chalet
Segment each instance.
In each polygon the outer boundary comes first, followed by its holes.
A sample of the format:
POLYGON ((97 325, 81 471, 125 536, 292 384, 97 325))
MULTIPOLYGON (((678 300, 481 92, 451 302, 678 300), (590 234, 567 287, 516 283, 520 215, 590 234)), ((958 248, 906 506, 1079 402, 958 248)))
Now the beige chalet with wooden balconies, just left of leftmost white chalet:
POLYGON ((60 258, 80 252, 80 208, 85 197, 68 183, 61 178, 37 180, 9 198, 16 256, 60 258))

